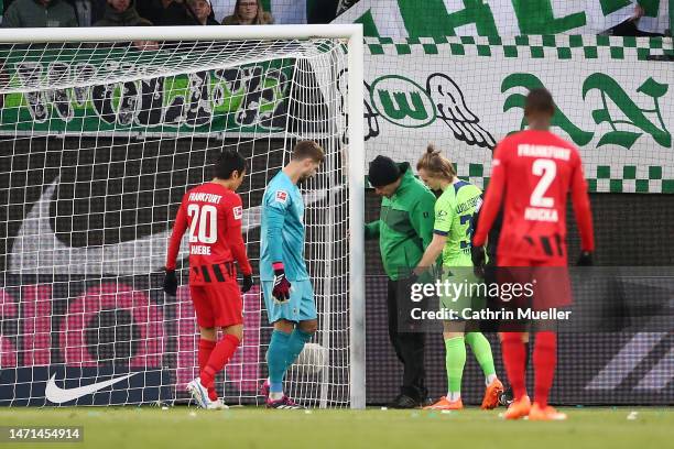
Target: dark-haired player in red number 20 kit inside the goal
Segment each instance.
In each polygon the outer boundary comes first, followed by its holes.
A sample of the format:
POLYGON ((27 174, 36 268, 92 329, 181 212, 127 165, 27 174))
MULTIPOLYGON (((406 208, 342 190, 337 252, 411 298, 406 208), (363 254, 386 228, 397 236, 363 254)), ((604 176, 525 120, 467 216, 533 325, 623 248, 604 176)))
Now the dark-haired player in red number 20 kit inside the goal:
POLYGON ((188 190, 177 211, 166 256, 164 292, 175 296, 175 259, 189 229, 189 294, 199 326, 199 376, 187 390, 203 408, 225 408, 215 376, 225 368, 243 337, 241 292, 252 287, 252 269, 241 236, 243 207, 236 194, 246 175, 246 160, 236 152, 220 154, 214 179, 188 190), (237 262, 243 275, 239 289, 237 262), (218 328, 222 338, 217 341, 218 328))

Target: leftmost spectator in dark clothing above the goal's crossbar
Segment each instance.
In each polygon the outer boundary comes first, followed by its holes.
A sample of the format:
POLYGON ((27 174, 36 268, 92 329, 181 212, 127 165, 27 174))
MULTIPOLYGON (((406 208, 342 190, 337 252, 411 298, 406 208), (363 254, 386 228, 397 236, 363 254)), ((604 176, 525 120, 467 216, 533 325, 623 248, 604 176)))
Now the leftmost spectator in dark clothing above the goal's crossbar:
POLYGON ((2 28, 77 25, 75 10, 64 0, 14 0, 2 18, 2 28))

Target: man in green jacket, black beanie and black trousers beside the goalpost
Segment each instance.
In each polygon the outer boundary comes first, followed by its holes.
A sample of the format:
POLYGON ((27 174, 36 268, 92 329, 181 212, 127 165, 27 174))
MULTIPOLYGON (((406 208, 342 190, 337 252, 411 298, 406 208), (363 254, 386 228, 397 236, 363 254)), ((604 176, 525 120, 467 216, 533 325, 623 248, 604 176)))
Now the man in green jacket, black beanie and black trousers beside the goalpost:
POLYGON ((380 218, 366 225, 366 239, 379 239, 379 249, 388 282, 389 338, 403 364, 400 394, 391 408, 415 408, 424 405, 428 392, 425 385, 425 336, 406 327, 412 305, 410 292, 412 269, 421 261, 433 239, 433 206, 435 195, 414 177, 407 163, 395 164, 377 156, 368 174, 374 193, 382 197, 380 218), (400 298, 400 300, 399 300, 400 298))

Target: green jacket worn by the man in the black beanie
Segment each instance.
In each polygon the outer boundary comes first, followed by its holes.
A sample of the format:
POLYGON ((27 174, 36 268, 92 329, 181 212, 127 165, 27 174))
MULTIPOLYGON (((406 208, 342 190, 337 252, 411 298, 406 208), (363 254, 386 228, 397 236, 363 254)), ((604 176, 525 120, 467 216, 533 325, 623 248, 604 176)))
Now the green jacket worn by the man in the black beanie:
POLYGON ((366 225, 366 239, 379 239, 384 271, 392 281, 406 277, 433 239, 435 195, 414 177, 410 164, 398 164, 402 182, 382 198, 379 220, 366 225), (402 274, 402 276, 401 276, 402 274))

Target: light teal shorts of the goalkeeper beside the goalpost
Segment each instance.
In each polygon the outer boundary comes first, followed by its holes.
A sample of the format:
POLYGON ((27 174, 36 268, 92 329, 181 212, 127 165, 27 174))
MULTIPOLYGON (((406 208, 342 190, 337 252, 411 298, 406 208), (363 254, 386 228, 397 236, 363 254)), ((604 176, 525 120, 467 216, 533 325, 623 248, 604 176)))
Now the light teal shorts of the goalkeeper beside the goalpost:
POLYGON ((314 300, 314 287, 309 280, 291 281, 291 297, 284 304, 279 304, 272 296, 273 281, 262 281, 262 295, 267 306, 269 322, 280 319, 287 321, 305 321, 316 319, 316 302, 314 300))

